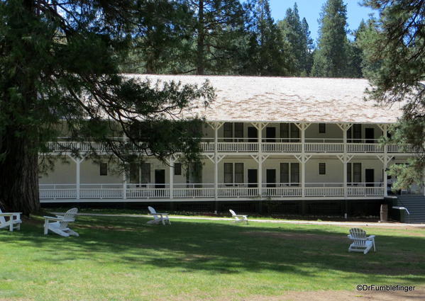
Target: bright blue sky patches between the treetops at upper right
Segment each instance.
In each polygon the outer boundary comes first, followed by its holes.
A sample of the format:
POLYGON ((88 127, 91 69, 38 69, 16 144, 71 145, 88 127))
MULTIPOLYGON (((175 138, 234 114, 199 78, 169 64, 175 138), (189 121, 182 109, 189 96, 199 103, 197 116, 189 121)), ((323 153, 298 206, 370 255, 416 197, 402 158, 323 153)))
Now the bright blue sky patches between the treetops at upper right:
MULTIPOLYGON (((318 36, 317 31, 319 30, 319 13, 321 7, 326 0, 270 0, 270 9, 272 10, 272 17, 275 21, 282 20, 285 17, 287 8, 294 7, 294 3, 298 4, 299 18, 306 18, 309 23, 311 31, 311 38, 316 42, 318 36)), ((347 4, 347 23, 348 29, 355 30, 358 28, 360 21, 369 18, 369 13, 372 13, 372 9, 360 6, 358 4, 360 0, 345 0, 347 4)))

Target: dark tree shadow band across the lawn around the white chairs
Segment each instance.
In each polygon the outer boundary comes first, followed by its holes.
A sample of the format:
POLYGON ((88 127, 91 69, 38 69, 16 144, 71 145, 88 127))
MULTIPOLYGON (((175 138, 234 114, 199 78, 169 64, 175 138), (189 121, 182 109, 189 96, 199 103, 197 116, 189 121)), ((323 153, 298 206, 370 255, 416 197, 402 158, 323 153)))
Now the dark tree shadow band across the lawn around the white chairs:
MULTIPOLYGON (((0 232, 1 241, 40 248, 40 261, 91 260, 131 268, 144 265, 180 272, 359 273, 364 283, 388 280, 425 283, 424 237, 377 235, 377 253, 348 253, 346 233, 331 228, 261 227, 222 222, 175 222, 146 225, 147 219, 79 217, 73 229, 80 237, 43 235, 40 221, 24 223, 21 232, 0 232), (339 232, 338 232, 339 231, 339 232)), ((348 231, 348 230, 347 230, 348 231)), ((353 277, 353 274, 348 275, 353 277)))

